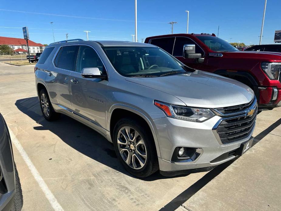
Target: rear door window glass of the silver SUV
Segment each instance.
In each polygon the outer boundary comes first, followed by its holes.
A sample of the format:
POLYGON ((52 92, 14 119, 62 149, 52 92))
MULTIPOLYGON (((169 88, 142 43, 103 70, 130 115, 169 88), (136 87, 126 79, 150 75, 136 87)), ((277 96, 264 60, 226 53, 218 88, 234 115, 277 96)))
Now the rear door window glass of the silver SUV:
POLYGON ((56 66, 61 69, 73 71, 77 50, 78 46, 76 45, 62 47, 55 59, 56 66))

